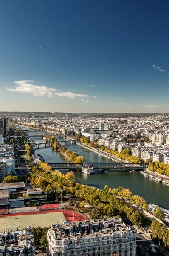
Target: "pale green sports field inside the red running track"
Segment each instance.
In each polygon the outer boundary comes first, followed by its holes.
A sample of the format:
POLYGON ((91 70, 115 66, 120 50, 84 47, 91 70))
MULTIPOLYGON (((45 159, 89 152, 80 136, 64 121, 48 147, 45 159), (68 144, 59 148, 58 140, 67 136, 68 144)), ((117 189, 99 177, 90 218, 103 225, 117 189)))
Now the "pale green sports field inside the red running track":
POLYGON ((19 215, 0 218, 0 232, 6 230, 23 230, 25 227, 49 227, 52 224, 63 223, 65 216, 62 212, 43 214, 19 215))

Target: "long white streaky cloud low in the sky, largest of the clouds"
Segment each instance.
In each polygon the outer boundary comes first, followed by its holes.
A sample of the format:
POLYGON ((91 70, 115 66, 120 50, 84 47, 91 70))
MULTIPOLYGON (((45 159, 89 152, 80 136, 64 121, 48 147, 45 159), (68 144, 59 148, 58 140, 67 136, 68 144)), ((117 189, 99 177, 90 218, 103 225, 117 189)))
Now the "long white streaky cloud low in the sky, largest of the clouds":
POLYGON ((88 94, 76 94, 72 92, 61 92, 57 91, 54 88, 49 88, 46 86, 39 86, 32 84, 32 80, 22 80, 22 81, 16 81, 14 84, 16 84, 15 88, 6 88, 6 90, 11 92, 19 92, 19 93, 31 93, 34 96, 38 97, 44 97, 47 96, 49 98, 53 97, 54 95, 59 97, 67 97, 70 99, 74 99, 75 97, 88 97, 88 94))

